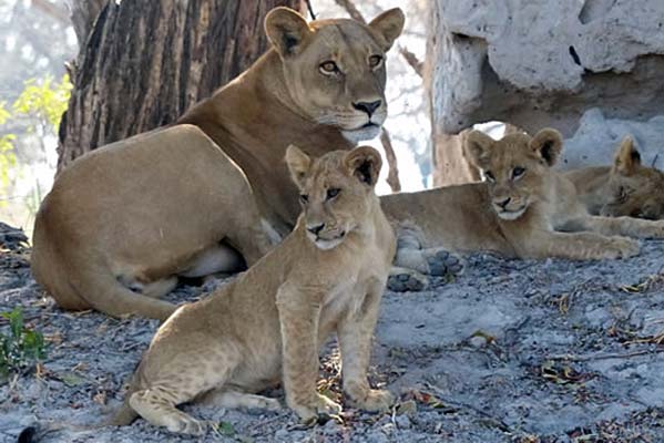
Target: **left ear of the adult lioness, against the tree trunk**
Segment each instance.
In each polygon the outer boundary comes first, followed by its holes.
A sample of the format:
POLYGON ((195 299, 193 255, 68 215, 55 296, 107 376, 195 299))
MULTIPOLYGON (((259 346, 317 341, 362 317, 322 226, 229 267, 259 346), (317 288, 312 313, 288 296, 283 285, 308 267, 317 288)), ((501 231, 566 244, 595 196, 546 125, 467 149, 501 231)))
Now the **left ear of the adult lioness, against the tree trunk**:
POLYGON ((290 8, 275 8, 265 17, 265 33, 282 58, 295 55, 311 33, 304 17, 290 8))

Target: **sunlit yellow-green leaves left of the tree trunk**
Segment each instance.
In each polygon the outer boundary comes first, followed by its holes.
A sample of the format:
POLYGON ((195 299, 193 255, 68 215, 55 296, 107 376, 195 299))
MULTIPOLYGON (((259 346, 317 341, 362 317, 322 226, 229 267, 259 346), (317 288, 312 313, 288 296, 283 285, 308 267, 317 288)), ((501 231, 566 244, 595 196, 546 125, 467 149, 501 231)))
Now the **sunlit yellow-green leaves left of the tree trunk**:
POLYGON ((44 126, 55 128, 60 125, 62 113, 67 111, 71 87, 67 74, 60 82, 53 82, 50 75, 41 82, 35 79, 27 80, 23 92, 13 103, 13 111, 19 115, 38 119, 44 126))

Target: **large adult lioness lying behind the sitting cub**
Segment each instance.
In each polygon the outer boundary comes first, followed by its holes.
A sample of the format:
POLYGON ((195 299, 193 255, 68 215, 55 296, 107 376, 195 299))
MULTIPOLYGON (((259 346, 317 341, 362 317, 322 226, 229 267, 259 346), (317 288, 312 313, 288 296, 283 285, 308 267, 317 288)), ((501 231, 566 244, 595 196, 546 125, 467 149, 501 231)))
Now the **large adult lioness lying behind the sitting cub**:
POLYGON ((385 52, 399 9, 368 25, 307 23, 276 8, 272 49, 178 124, 95 150, 55 179, 34 224, 32 271, 65 309, 167 318, 177 276, 237 270, 289 233, 297 189, 283 162, 378 134, 385 52))

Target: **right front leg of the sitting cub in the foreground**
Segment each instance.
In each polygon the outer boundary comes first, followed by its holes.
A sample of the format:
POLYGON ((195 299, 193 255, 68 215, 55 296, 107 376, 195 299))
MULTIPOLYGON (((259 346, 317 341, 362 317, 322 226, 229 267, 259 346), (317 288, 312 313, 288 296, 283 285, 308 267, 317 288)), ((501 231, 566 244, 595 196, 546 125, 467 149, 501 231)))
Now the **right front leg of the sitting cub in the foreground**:
POLYGON ((389 391, 371 389, 367 379, 371 338, 384 289, 384 282, 372 282, 359 311, 348 312, 337 327, 344 393, 353 406, 371 412, 387 411, 395 401, 389 391))

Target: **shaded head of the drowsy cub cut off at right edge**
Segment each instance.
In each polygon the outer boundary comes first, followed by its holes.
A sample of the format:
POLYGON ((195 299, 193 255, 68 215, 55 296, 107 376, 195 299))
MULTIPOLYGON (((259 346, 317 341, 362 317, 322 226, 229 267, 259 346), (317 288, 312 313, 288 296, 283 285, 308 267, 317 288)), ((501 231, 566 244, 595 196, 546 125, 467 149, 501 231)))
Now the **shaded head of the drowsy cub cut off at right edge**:
POLYGON ((609 187, 611 200, 602 207, 602 215, 664 218, 664 173, 641 164, 641 154, 630 136, 617 148, 609 187))

